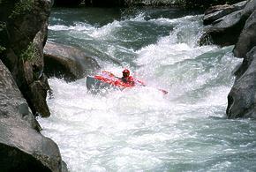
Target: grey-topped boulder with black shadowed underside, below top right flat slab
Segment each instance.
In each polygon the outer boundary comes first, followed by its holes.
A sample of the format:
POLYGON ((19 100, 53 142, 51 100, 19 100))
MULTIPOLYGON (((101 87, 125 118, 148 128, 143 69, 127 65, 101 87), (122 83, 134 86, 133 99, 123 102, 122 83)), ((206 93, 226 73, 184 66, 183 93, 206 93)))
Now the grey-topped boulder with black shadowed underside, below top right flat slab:
POLYGON ((210 37, 212 43, 220 46, 233 45, 237 42, 238 36, 245 26, 246 19, 256 9, 256 1, 249 1, 243 10, 235 11, 222 19, 217 19, 213 26, 207 27, 200 39, 200 45, 203 45, 207 37, 210 37))

